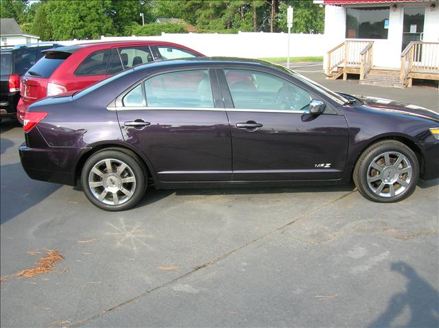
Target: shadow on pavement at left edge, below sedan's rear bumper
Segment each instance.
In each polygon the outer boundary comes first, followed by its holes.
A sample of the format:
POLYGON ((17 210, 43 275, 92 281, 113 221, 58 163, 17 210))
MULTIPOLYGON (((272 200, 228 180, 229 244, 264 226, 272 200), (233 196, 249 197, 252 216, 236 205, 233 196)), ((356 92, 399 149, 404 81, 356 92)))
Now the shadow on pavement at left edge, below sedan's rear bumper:
POLYGON ((27 211, 62 187, 55 183, 31 180, 21 163, 1 165, 0 178, 0 224, 27 211))

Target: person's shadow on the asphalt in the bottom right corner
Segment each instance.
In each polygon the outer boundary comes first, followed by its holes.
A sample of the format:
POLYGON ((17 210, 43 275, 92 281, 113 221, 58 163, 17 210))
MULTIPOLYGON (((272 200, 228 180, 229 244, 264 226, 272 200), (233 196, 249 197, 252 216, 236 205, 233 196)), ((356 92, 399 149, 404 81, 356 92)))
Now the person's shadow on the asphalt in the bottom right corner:
POLYGON ((405 292, 394 294, 385 312, 368 327, 392 327, 392 322, 406 307, 410 310, 410 320, 398 327, 439 327, 438 291, 404 262, 392 263, 390 270, 407 278, 405 292))

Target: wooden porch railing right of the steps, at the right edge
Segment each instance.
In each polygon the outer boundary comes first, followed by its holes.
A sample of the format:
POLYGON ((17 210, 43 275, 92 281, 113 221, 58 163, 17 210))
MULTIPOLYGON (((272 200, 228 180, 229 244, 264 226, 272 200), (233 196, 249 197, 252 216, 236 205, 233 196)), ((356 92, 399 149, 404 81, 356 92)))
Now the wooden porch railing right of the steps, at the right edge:
POLYGON ((410 73, 439 73, 439 43, 412 41, 401 53, 400 82, 411 84, 410 73))

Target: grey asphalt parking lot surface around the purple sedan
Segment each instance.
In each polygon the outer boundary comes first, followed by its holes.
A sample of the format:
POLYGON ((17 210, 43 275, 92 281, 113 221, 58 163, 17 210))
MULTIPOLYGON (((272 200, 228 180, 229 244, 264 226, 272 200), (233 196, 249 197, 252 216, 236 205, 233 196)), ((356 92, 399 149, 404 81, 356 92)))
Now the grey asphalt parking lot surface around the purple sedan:
MULTIPOLYGON (((437 88, 294 68, 336 91, 438 110, 437 88)), ((439 325, 439 179, 396 204, 353 185, 151 188, 135 209, 109 213, 79 187, 30 180, 22 128, 0 125, 1 277, 32 267, 35 252, 64 257, 54 272, 2 281, 1 327, 439 325)))

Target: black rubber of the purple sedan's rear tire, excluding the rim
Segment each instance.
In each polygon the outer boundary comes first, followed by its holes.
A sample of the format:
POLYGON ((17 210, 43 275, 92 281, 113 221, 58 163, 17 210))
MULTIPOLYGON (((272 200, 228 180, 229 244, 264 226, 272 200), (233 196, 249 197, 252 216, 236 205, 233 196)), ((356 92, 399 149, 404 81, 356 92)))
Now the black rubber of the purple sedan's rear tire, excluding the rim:
POLYGON ((124 211, 134 207, 145 194, 146 181, 146 172, 145 169, 141 167, 141 163, 130 156, 130 154, 121 152, 119 150, 103 150, 91 155, 91 157, 87 159, 86 163, 84 164, 84 167, 82 167, 81 172, 81 185, 86 198, 88 198, 88 200, 90 200, 90 202, 96 207, 99 207, 99 209, 104 209, 106 211, 124 211), (134 190, 134 195, 132 198, 130 198, 130 200, 127 202, 120 205, 108 205, 95 198, 95 196, 93 196, 91 193, 90 187, 88 187, 88 175, 90 174, 94 165, 103 159, 118 159, 119 161, 126 163, 126 165, 132 169, 134 177, 136 178, 136 189, 134 190))

